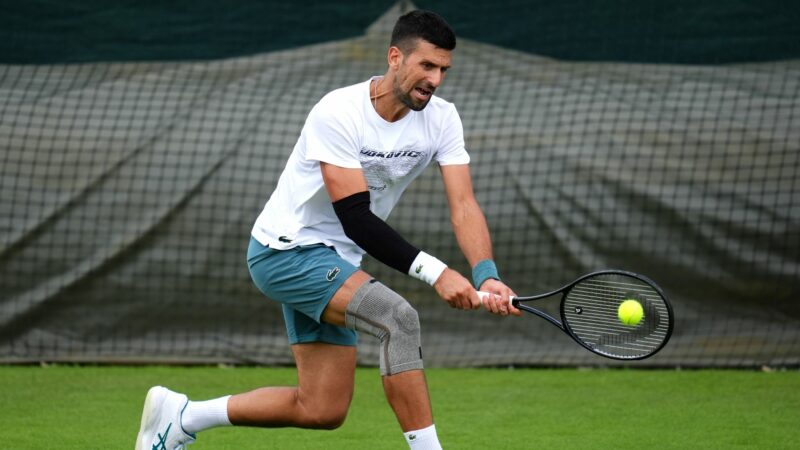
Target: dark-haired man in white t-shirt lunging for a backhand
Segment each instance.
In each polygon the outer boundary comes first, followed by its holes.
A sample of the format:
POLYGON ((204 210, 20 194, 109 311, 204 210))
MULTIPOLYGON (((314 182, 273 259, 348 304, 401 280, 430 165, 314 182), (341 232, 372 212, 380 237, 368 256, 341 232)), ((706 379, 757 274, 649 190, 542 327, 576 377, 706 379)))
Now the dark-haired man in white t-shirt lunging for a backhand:
POLYGON ((353 395, 356 331, 381 341, 387 399, 412 449, 440 449, 422 367, 417 312, 359 269, 362 255, 431 284, 458 309, 481 304, 520 312, 492 262, 475 201, 455 107, 433 94, 450 68, 456 40, 438 15, 398 19, 384 76, 337 89, 314 106, 278 186, 256 220, 248 249, 253 281, 282 303, 298 386, 265 387, 204 402, 154 387, 137 449, 173 450, 222 425, 332 429, 353 395), (384 219, 408 184, 436 159, 453 229, 474 267, 466 278, 420 251, 384 219))

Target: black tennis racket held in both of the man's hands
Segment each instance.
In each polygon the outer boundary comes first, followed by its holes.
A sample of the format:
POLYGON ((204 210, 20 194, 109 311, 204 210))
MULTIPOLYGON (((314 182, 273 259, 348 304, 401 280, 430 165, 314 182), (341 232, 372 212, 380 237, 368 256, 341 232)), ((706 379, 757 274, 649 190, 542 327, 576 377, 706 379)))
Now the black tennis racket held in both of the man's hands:
MULTIPOLYGON (((490 295, 478 294, 481 300, 490 295)), ((589 351, 612 359, 647 358, 672 335, 672 306, 661 289, 647 277, 622 270, 592 272, 546 294, 512 297, 511 303, 557 326, 589 351), (528 304, 559 294, 561 320, 528 304), (644 314, 635 325, 626 325, 618 311, 631 299, 641 304, 644 314)))

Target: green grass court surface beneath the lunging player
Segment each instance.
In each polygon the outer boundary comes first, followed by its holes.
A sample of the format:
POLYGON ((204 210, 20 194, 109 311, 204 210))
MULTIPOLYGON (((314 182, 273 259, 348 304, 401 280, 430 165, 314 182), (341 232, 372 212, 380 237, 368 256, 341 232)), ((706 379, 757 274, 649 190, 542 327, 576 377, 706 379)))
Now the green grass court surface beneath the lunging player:
MULTIPOLYGON (((449 449, 781 449, 800 440, 800 372, 427 371, 449 449)), ((0 367, 8 449, 127 449, 144 394, 206 399, 295 381, 285 368, 0 367)), ((335 431, 219 428, 191 449, 404 449, 376 369, 359 369, 335 431)))

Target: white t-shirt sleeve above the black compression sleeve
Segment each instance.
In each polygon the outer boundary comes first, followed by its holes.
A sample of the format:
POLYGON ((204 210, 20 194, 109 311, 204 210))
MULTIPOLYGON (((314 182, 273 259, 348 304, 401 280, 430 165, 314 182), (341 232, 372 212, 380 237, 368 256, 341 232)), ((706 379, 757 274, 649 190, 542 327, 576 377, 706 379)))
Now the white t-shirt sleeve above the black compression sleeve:
POLYGON ((303 135, 309 160, 348 169, 361 168, 352 114, 335 111, 326 102, 320 102, 308 114, 303 135))

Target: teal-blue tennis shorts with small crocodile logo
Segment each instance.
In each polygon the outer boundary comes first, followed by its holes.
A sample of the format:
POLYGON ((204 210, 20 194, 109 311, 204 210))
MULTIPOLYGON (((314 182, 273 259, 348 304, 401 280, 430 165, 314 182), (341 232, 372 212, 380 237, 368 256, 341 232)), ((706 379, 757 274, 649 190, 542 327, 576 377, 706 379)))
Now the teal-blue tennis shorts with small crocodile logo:
POLYGON ((324 244, 275 250, 250 238, 247 266, 258 289, 283 306, 290 344, 355 346, 355 331, 320 322, 333 294, 357 267, 324 244))

